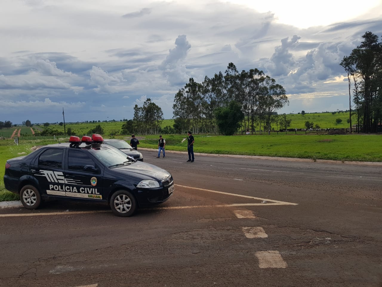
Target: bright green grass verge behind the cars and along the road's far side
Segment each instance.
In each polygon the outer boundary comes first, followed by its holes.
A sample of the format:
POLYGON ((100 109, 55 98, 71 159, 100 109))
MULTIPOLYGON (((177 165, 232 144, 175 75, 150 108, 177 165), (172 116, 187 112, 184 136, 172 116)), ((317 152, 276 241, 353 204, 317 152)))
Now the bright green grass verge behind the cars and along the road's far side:
MULTIPOLYGON (((259 155, 269 157, 295 157, 341 161, 382 161, 382 135, 317 135, 295 133, 272 133, 271 135, 206 136, 194 135, 194 152, 259 155)), ((122 139, 122 136, 118 138, 122 139)), ((157 148, 158 135, 141 139, 139 147, 157 148)), ((186 135, 163 135, 166 150, 187 151, 186 135), (183 141, 183 142, 182 142, 183 141)), ((36 145, 65 142, 68 138, 21 140, 16 145, 13 140, 0 141, 0 201, 17 200, 18 196, 4 188, 5 162, 9 158, 30 153, 36 145), (1 168, 2 167, 2 168, 1 168)))

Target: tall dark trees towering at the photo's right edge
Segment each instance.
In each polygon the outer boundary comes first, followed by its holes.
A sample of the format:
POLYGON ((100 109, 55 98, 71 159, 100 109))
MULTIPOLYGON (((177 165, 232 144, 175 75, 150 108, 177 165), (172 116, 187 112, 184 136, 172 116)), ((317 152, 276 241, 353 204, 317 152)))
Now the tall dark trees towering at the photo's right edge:
POLYGON ((377 132, 378 125, 382 125, 382 42, 371 32, 362 38, 361 44, 343 57, 340 66, 348 76, 350 127, 351 109, 355 106, 357 124, 363 125, 363 132, 377 132))

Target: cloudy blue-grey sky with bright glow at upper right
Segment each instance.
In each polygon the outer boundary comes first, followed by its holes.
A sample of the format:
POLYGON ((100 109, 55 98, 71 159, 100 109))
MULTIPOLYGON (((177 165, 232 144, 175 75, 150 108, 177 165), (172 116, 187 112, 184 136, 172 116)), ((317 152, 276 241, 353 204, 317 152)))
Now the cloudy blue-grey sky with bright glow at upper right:
POLYGON ((0 121, 132 119, 147 98, 171 119, 230 62, 285 88, 278 113, 347 110, 339 63, 366 31, 381 40, 382 0, 2 0, 0 121))

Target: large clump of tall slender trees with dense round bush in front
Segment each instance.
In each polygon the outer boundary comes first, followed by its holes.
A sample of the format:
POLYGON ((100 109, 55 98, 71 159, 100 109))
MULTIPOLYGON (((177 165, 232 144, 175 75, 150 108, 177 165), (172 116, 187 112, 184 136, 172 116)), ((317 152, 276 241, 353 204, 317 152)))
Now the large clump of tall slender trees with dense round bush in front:
POLYGON ((240 126, 254 130, 260 123, 270 130, 272 115, 288 104, 285 89, 275 79, 257 68, 239 72, 231 62, 224 75, 205 76, 202 83, 189 78, 176 93, 174 128, 182 133, 233 134, 240 126))

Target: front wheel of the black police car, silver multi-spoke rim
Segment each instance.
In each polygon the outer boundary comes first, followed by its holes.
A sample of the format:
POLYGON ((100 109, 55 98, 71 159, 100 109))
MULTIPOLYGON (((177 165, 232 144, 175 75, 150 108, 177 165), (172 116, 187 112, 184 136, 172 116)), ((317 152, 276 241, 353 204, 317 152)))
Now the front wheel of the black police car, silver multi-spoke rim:
POLYGON ((129 217, 134 214, 137 202, 130 192, 118 190, 110 198, 110 207, 115 215, 129 217))

